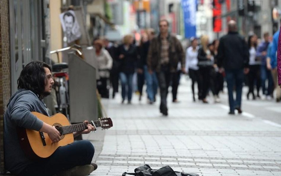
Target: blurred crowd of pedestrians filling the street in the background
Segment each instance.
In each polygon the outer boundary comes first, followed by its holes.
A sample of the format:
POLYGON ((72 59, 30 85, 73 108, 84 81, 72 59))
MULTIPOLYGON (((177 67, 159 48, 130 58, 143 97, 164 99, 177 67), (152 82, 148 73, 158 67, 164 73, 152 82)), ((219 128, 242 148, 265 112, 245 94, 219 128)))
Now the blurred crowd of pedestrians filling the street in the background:
POLYGON ((194 102, 198 99, 209 103, 207 97, 212 94, 214 102, 219 103, 219 94, 226 81, 229 114, 235 114, 234 110, 242 113, 243 85, 248 86, 248 100, 262 97, 272 100, 275 97, 277 102, 280 101, 276 57, 279 31, 273 37, 264 33, 262 41, 256 34, 249 35, 246 40, 238 34, 236 22, 230 20, 225 36, 214 41, 207 35, 191 37, 190 45, 184 50, 181 41, 168 29, 169 22, 163 19, 159 21, 158 35, 153 29, 146 29, 137 43, 132 35, 125 35, 119 45, 107 39, 94 41, 100 74, 97 86, 102 97, 109 98, 109 87, 112 86, 114 98, 121 83, 121 103, 131 104, 134 92, 141 101, 146 84, 147 102, 154 104, 159 90, 159 110, 168 115, 169 87, 172 87, 173 102, 178 102, 179 80, 181 74, 186 73, 191 78, 194 102), (233 92, 236 92, 235 98, 233 92))

